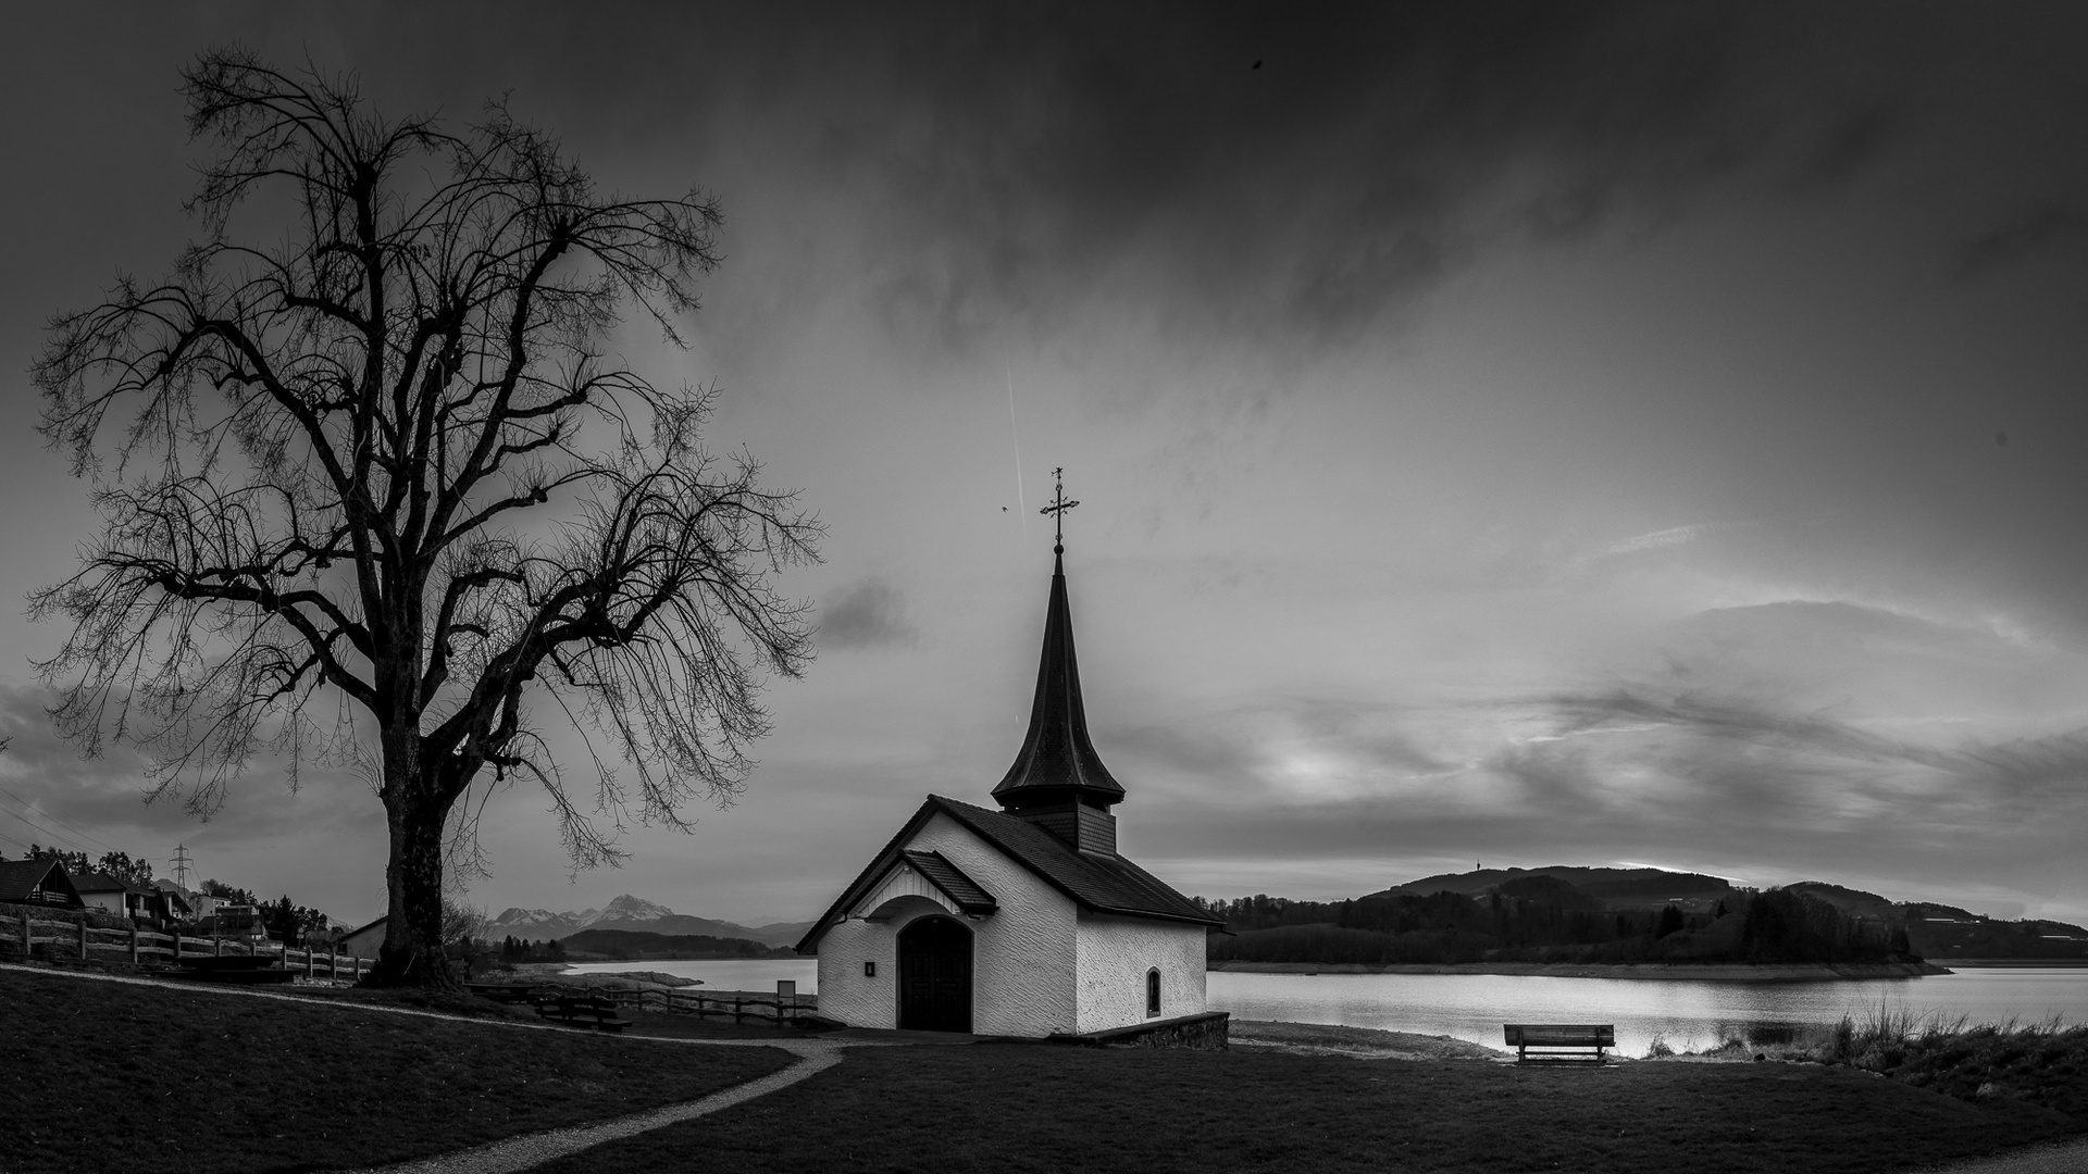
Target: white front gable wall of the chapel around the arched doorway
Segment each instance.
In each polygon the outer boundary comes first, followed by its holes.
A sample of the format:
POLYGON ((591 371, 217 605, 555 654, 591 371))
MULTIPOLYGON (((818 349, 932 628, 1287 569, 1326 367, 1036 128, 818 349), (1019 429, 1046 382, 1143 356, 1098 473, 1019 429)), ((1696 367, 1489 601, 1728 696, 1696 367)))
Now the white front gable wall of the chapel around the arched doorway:
MULTIPOLYGON (((971 930, 971 1030, 983 1036, 1082 1030, 1073 1007, 1077 907, 948 815, 931 817, 906 848, 942 852, 1000 907, 992 917, 965 919, 971 930)), ((921 898, 894 909, 889 921, 848 919, 821 936, 821 1015, 856 1028, 898 1026, 898 934, 940 909, 921 898), (877 963, 875 978, 864 978, 864 961, 877 963)), ((1196 948, 1201 984, 1203 938, 1196 948)))

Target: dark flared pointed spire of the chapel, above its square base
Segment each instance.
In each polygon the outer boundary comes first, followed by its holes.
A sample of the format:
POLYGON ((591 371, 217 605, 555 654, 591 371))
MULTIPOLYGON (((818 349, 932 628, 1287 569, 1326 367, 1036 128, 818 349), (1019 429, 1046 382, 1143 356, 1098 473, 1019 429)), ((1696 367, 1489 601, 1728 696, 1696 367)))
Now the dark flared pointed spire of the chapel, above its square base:
MULTIPOLYGON (((1061 487, 1057 514, 1063 518, 1071 506, 1061 487)), ((1063 537, 1052 547, 1044 656, 1038 662, 1038 694, 1029 704, 1029 733, 1015 752, 1015 765, 994 788, 994 798, 1004 808, 1082 802, 1102 811, 1123 800, 1123 785, 1109 775, 1102 756, 1094 752, 1094 742, 1088 739, 1088 712, 1079 702, 1079 664, 1073 658, 1073 610, 1065 597, 1063 537)))

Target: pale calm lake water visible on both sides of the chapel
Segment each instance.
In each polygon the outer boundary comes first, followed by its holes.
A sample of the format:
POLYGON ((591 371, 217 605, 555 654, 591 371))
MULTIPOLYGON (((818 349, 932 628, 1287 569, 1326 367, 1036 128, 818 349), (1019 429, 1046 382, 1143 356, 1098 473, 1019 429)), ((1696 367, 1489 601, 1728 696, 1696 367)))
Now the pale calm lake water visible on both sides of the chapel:
MULTIPOLYGON (((587 963, 583 973, 656 969, 714 990, 775 990, 787 978, 818 990, 818 959, 587 963)), ((1501 1024, 1616 1024, 1624 1055, 1660 1034, 1677 1051, 1727 1036, 1766 1038, 1844 1013, 1959 1015, 1973 1024, 2088 1024, 2088 967, 1965 967, 1929 978, 1858 982, 1687 982, 1520 973, 1234 973, 1209 976, 1209 1007, 1238 1019, 1343 1024, 1501 1047, 1501 1024)))

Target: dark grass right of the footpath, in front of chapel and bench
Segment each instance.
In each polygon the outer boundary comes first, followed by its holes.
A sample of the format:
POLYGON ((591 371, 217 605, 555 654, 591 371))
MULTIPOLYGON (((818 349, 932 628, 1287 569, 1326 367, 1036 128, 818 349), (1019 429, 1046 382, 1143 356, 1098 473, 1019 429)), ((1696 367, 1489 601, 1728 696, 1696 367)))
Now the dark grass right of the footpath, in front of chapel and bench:
POLYGON ((862 1049, 760 1101, 543 1170, 1854 1174, 2082 1128, 1823 1065, 981 1044, 862 1049))

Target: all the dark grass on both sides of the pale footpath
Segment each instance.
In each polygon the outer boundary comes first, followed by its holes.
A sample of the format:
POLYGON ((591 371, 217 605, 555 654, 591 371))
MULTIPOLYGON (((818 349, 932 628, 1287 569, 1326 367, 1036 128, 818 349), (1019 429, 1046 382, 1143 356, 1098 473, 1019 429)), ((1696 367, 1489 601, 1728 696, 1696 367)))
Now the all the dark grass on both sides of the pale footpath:
MULTIPOLYGON (((775 1049, 643 1038, 760 1042, 775 1028, 639 1015, 631 1034, 599 1036, 363 1005, 518 1015, 466 996, 315 999, 332 1005, 0 971, 0 1172, 374 1166, 689 1101, 789 1063, 775 1049)), ((1842 1036, 1829 1040, 1840 1063, 1604 1067, 864 1047, 804 1084, 545 1170, 1854 1174, 2088 1130, 2067 1093, 2078 1030, 1946 1036, 1879 1022, 1842 1036), (1996 1090, 1977 1095, 1973 1076, 1996 1090)))

